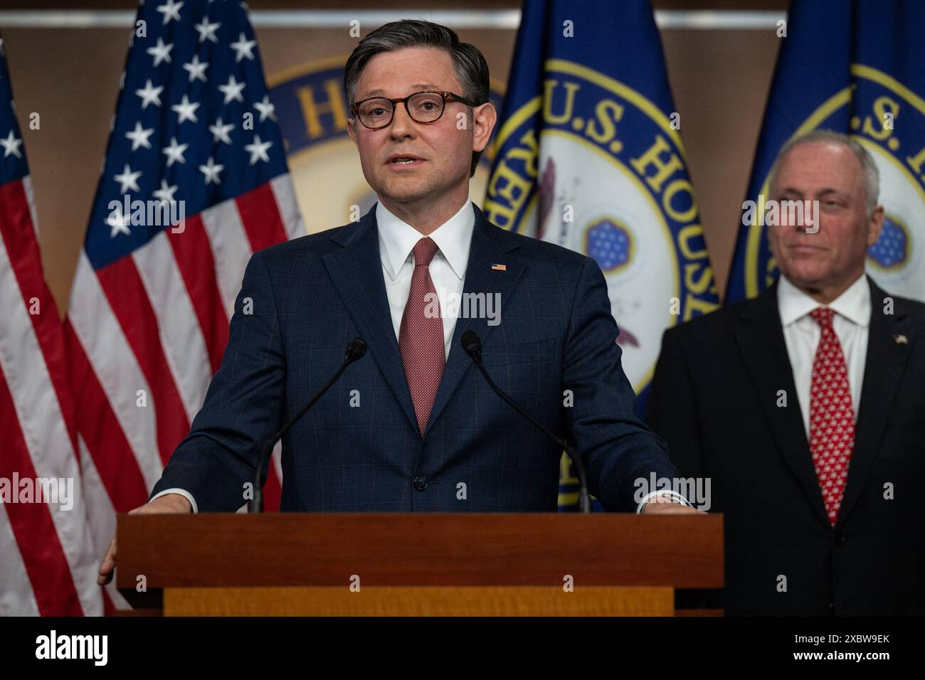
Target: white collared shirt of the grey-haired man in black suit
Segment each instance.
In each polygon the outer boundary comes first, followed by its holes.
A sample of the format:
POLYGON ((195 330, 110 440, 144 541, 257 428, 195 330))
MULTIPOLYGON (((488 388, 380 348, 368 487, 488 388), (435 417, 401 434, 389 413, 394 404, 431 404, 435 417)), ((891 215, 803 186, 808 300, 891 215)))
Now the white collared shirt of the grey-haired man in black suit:
POLYGON ((809 437, 809 389, 812 364, 822 335, 820 326, 809 313, 816 307, 831 307, 832 327, 845 355, 851 405, 857 422, 864 365, 867 363, 868 331, 870 329, 870 285, 863 274, 845 292, 827 305, 813 300, 783 276, 777 286, 777 308, 781 314, 783 340, 794 371, 796 397, 800 402, 803 426, 809 437))

